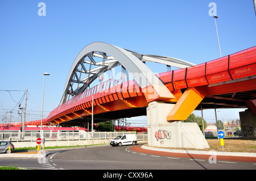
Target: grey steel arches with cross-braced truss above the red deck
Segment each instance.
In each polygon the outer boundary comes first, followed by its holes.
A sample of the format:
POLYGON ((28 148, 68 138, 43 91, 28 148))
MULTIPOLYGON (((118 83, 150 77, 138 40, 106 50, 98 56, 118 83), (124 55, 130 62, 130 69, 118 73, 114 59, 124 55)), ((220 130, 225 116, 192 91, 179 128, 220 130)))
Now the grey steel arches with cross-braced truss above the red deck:
POLYGON ((162 85, 159 78, 143 64, 144 62, 166 64, 167 68, 187 68, 195 65, 172 57, 139 54, 107 43, 92 43, 82 49, 73 62, 60 104, 81 94, 95 79, 98 78, 101 82, 106 71, 119 65, 122 65, 124 72, 128 70, 129 73, 134 73, 135 81, 142 88, 148 85, 162 85))

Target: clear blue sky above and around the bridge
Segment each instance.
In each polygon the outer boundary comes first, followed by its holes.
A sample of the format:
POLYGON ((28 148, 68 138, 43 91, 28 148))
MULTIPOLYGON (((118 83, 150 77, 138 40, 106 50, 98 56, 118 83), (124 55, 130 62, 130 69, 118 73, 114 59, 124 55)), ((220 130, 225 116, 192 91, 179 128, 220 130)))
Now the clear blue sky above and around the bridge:
MULTIPOLYGON (((60 103, 77 54, 94 41, 195 64, 214 60, 220 54, 214 18, 208 13, 210 2, 216 3, 222 56, 255 46, 253 0, 0 0, 0 90, 27 88, 27 120, 40 119, 43 73, 50 73, 44 91, 48 115, 60 103), (46 16, 38 15, 39 2, 46 4, 46 16)), ((154 71, 167 69, 155 66, 154 71)), ((15 102, 24 92, 10 94, 0 91, 0 123, 13 109, 13 120, 18 119, 15 102)), ((218 112, 225 121, 238 116, 238 111, 218 112)), ((214 121, 214 112, 205 111, 204 118, 214 121)))

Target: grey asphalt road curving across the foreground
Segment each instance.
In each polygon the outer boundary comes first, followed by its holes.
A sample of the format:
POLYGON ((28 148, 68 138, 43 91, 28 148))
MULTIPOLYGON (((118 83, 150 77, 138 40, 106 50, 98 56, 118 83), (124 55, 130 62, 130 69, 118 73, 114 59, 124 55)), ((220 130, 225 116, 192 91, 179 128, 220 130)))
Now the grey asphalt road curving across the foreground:
MULTIPOLYGON (((135 145, 136 146, 136 145, 135 145)), ((165 157, 131 151, 130 146, 88 146, 48 150, 45 158, 0 158, 0 165, 36 170, 256 170, 256 163, 165 157)))

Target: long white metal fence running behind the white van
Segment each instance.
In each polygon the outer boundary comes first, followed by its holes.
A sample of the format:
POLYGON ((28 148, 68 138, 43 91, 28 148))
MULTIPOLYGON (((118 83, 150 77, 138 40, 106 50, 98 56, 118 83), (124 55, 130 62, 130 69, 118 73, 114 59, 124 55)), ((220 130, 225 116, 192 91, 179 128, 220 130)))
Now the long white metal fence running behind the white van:
MULTIPOLYGON (((136 132, 43 132, 46 141, 65 140, 111 140, 122 134, 136 134, 136 132)), ((1 132, 0 141, 36 141, 40 132, 1 132)), ((137 134, 137 140, 147 140, 147 134, 137 134)))

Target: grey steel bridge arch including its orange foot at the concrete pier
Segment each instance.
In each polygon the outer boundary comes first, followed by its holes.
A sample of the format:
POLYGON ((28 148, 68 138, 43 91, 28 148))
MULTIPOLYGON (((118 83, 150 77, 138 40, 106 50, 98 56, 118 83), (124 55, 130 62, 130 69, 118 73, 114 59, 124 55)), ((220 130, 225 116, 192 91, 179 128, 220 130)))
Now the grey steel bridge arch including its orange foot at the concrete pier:
POLYGON ((167 87, 163 85, 162 81, 160 81, 160 79, 143 63, 145 61, 158 62, 179 68, 195 65, 176 58, 143 55, 131 52, 108 43, 91 43, 81 50, 73 62, 65 83, 63 97, 61 98, 60 104, 63 104, 67 100, 68 94, 80 94, 100 74, 118 65, 122 65, 130 74, 133 75, 135 81, 142 88, 148 102, 152 100, 166 100, 174 98, 167 87), (102 61, 96 62, 94 57, 102 58, 102 61), (86 58, 89 58, 89 60, 86 60, 86 58), (84 64, 90 65, 89 70, 86 70, 84 64), (92 65, 97 67, 91 69, 92 65), (79 69, 79 66, 81 66, 81 69, 79 69), (77 72, 79 72, 80 75, 81 73, 88 74, 88 76, 81 79, 77 72), (74 82, 78 83, 76 90, 72 89, 74 82), (81 86, 79 86, 80 84, 81 86))

